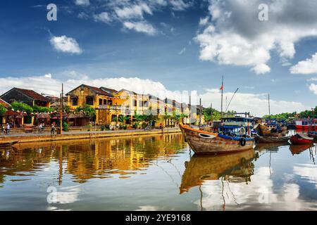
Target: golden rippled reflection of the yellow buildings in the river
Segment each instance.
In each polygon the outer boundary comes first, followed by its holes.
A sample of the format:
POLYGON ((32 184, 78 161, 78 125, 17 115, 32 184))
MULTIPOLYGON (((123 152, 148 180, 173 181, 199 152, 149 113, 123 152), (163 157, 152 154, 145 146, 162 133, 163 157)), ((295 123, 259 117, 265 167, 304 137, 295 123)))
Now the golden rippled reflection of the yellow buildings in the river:
POLYGON ((6 176, 20 176, 25 180, 52 162, 59 167, 56 176, 59 185, 63 174, 72 174, 77 183, 116 175, 125 179, 132 174, 145 174, 151 161, 175 156, 185 147, 182 136, 175 134, 72 143, 25 143, 0 150, 0 183, 4 183, 6 176))

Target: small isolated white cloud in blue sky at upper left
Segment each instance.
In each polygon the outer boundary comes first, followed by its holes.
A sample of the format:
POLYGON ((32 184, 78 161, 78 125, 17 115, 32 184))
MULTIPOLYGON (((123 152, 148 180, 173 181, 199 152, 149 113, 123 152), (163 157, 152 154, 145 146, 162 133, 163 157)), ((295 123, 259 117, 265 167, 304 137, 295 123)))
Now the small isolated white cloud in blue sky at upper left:
POLYGON ((51 37, 51 44, 54 46, 56 51, 60 51, 63 53, 74 53, 81 54, 82 49, 80 49, 77 41, 71 37, 66 37, 65 35, 61 37, 51 37))

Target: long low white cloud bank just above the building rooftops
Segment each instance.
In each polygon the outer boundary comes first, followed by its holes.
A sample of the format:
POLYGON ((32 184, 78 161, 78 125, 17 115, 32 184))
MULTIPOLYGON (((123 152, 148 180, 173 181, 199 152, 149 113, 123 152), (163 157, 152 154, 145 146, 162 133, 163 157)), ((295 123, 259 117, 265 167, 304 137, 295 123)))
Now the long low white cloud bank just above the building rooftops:
MULTIPOLYGON (((201 97, 202 103, 209 106, 213 103, 213 107, 220 109, 221 94, 218 89, 205 90, 204 93, 198 93, 194 90, 178 90, 171 91, 161 82, 154 82, 151 79, 139 79, 137 77, 118 77, 118 78, 98 78, 92 79, 88 75, 81 74, 75 71, 66 71, 61 74, 61 77, 67 79, 63 81, 64 90, 70 91, 80 84, 87 84, 91 86, 106 86, 111 89, 128 89, 139 94, 153 94, 159 98, 171 98, 179 102, 188 103, 189 94, 192 96, 192 104, 199 104, 201 97)), ((59 96, 61 92, 62 81, 54 78, 54 76, 47 74, 43 76, 32 77, 4 77, 0 78, 0 93, 4 94, 8 89, 13 87, 20 87, 25 89, 33 89, 38 93, 46 93, 54 96, 59 96), (49 84, 49 85, 48 85, 49 84)), ((233 93, 225 92, 224 96, 231 97, 233 93)), ((256 116, 267 115, 267 96, 264 94, 247 94, 238 93, 232 101, 228 110, 236 110, 239 113, 248 111, 256 116)), ((276 101, 271 99, 272 113, 292 113, 294 111, 302 111, 309 109, 302 103, 292 101, 276 101)))

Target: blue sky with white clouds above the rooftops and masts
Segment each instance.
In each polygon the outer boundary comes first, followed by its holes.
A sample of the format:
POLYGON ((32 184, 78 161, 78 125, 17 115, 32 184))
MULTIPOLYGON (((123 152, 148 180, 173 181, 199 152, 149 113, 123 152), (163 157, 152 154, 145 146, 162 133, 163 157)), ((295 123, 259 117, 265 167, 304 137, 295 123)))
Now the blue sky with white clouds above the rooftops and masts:
POLYGON ((6 1, 0 94, 89 84, 220 110, 224 76, 224 108, 239 88, 228 110, 267 115, 269 93, 271 113, 300 112, 316 105, 316 12, 311 0, 6 1))

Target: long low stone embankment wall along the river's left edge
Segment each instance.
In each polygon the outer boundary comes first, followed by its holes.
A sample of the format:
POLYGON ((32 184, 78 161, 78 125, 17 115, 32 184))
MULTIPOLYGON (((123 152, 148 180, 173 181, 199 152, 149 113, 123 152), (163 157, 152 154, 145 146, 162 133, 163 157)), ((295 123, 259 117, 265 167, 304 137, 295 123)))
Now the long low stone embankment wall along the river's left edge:
POLYGON ((76 139, 99 139, 118 136, 144 136, 152 134, 176 134, 180 133, 179 128, 152 129, 144 130, 118 130, 118 131, 78 131, 63 132, 56 136, 49 133, 43 134, 11 134, 8 136, 0 136, 0 144, 10 141, 19 141, 19 143, 43 142, 43 141, 68 141, 76 139))

